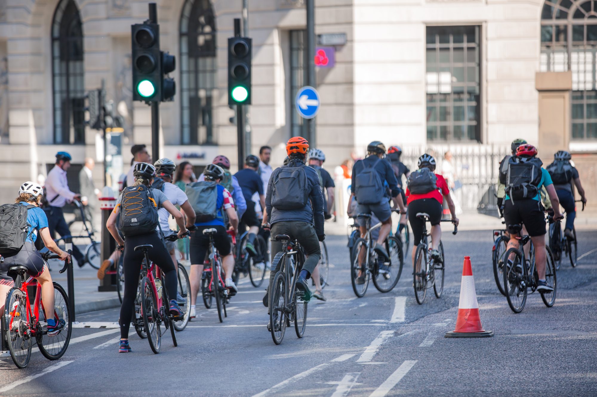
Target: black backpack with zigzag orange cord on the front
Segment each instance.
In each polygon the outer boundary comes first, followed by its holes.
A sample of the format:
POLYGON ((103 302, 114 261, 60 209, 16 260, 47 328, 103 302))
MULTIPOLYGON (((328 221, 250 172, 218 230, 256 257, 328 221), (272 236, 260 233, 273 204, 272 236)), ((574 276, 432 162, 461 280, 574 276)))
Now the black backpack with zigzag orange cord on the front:
POLYGON ((125 237, 147 234, 158 228, 158 204, 153 200, 151 190, 147 186, 124 188, 120 196, 120 211, 116 224, 125 237))

